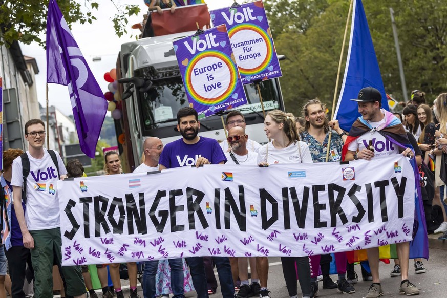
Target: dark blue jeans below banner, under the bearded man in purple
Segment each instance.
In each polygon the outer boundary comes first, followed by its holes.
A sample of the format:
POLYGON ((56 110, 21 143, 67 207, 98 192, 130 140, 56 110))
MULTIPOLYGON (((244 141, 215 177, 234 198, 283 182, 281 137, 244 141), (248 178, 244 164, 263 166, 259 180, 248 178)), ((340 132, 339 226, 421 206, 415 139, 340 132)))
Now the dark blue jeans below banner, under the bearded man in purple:
MULTIPOLYGON (((208 286, 206 282, 205 266, 203 257, 186 258, 189 265, 191 278, 197 292, 197 298, 208 297, 208 286)), ((223 298, 233 298, 235 296, 235 285, 231 276, 230 260, 227 257, 212 257, 212 262, 216 265, 217 274, 223 298)))

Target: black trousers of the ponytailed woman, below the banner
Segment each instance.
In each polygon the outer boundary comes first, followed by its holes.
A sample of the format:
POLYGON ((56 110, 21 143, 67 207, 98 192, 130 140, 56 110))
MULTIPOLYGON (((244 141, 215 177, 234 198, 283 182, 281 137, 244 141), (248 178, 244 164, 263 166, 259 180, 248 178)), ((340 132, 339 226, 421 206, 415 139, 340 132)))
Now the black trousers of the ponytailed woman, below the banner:
POLYGON ((296 273, 300 279, 300 287, 303 296, 310 296, 310 265, 309 257, 281 257, 283 264, 284 280, 286 281, 287 291, 289 296, 297 294, 296 273), (296 268, 295 270, 295 262, 296 268))

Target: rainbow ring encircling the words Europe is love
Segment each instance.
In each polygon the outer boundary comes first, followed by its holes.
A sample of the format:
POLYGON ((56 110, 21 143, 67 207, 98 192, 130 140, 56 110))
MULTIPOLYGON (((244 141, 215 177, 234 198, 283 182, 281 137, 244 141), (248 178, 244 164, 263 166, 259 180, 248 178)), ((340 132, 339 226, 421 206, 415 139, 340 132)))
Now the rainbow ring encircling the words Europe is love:
POLYGON ((193 59, 191 59, 188 63, 188 66, 186 67, 185 89, 191 95, 191 97, 198 103, 203 104, 203 105, 216 105, 221 102, 224 102, 226 99, 228 99, 233 94, 233 92, 236 89, 237 83, 238 83, 238 80, 237 80, 238 77, 239 77, 238 69, 237 69, 235 63, 233 63, 233 61, 230 59, 230 57, 228 57, 227 55, 225 55, 222 52, 215 51, 215 50, 203 51, 203 52, 197 54, 193 59), (228 70, 230 71, 230 78, 229 78, 230 84, 228 85, 228 88, 225 90, 224 93, 222 93, 219 97, 216 97, 216 98, 206 98, 206 97, 200 96, 194 90, 193 83, 191 82, 191 77, 194 75, 193 70, 196 67, 197 63, 200 60, 202 60, 204 58, 208 58, 208 57, 217 58, 217 59, 221 60, 223 62, 223 64, 226 65, 228 70))

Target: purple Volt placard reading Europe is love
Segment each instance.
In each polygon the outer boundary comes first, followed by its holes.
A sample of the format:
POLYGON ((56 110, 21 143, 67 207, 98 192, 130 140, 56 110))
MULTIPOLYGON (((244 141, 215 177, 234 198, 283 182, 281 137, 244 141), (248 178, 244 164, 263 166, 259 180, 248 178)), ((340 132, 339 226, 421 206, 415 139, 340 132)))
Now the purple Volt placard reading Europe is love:
POLYGON ((225 25, 173 44, 189 105, 199 119, 247 103, 225 25))

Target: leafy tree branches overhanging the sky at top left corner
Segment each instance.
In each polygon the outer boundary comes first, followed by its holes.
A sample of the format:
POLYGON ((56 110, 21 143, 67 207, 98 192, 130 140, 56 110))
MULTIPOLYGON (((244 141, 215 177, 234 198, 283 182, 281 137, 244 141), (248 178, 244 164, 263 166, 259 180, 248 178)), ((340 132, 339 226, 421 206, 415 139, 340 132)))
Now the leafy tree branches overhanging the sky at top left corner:
MULTIPOLYGON (((140 9, 136 5, 111 1, 117 9, 112 19, 113 27, 116 34, 121 36, 127 32, 127 17, 137 15, 140 9)), ((84 24, 96 20, 92 11, 98 10, 99 4, 94 0, 59 0, 57 4, 69 26, 76 22, 84 24), (82 6, 87 8, 87 13, 84 14, 82 6)), ((17 40, 27 45, 35 41, 44 46, 45 40, 41 40, 39 34, 47 29, 47 11, 47 0, 0 0, 0 34, 6 45, 17 40)))

